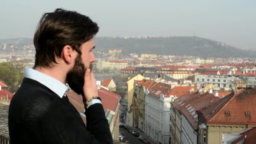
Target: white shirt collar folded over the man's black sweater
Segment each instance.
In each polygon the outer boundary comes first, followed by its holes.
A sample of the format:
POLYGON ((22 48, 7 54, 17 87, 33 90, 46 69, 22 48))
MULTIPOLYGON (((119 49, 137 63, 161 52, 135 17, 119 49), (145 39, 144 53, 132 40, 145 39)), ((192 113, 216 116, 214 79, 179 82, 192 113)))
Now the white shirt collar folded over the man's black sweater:
POLYGON ((56 80, 53 77, 45 75, 42 72, 38 72, 37 70, 32 69, 32 67, 25 67, 24 73, 25 73, 25 77, 36 80, 39 83, 42 83, 47 88, 51 89, 51 91, 56 93, 59 97, 62 98, 62 96, 66 96, 68 87, 64 83, 61 83, 59 80, 56 80))

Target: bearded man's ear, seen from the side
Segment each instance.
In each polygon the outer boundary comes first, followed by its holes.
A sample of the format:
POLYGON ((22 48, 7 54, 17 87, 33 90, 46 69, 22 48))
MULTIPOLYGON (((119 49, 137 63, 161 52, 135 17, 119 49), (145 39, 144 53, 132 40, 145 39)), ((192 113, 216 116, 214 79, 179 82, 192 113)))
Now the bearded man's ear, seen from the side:
POLYGON ((70 64, 76 58, 75 50, 70 45, 65 45, 62 49, 63 60, 70 64))

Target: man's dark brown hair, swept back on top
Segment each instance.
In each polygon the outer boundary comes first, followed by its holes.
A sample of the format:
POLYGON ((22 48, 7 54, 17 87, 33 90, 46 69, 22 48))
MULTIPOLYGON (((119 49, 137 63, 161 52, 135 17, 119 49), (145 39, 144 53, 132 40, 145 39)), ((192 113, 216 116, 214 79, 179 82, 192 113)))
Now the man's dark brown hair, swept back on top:
POLYGON ((80 46, 91 40, 99 31, 98 25, 88 16, 57 8, 44 13, 37 26, 35 45, 35 67, 51 67, 61 58, 62 49, 70 45, 81 55, 80 46))

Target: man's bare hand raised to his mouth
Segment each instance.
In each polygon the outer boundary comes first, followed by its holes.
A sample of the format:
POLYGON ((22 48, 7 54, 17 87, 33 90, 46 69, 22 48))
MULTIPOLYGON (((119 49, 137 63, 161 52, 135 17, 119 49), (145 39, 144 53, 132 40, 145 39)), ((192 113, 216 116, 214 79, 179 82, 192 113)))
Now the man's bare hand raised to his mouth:
POLYGON ((85 83, 83 85, 83 92, 85 101, 91 99, 93 96, 98 96, 98 90, 96 85, 96 79, 91 69, 85 71, 85 83))

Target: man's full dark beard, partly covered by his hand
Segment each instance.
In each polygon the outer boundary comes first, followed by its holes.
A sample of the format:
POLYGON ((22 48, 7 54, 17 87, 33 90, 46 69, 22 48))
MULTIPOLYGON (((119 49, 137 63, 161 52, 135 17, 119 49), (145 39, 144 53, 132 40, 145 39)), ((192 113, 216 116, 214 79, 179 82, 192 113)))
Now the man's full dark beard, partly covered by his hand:
MULTIPOLYGON (((93 64, 90 64, 89 69, 92 71, 93 64)), ((85 71, 87 68, 85 68, 82 59, 80 56, 77 56, 75 59, 75 65, 74 67, 69 70, 67 73, 66 82, 69 85, 69 87, 75 91, 77 94, 83 95, 83 85, 85 82, 85 71)))

